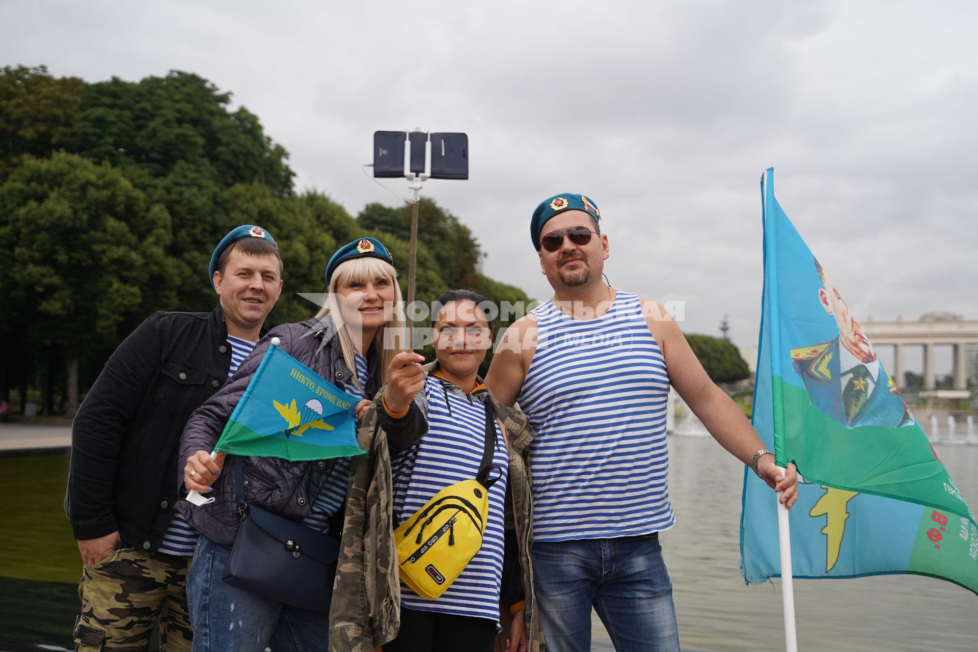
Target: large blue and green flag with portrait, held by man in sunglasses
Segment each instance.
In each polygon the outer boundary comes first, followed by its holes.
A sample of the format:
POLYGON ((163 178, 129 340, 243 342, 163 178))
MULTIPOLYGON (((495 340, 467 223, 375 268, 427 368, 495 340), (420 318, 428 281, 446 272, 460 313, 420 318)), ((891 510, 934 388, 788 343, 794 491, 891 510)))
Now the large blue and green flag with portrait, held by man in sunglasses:
MULTIPOLYGON (((796 578, 913 573, 978 592, 978 525, 866 334, 762 180, 764 295, 754 429, 800 482, 796 578)), ((744 473, 748 584, 779 577, 777 498, 744 473)))

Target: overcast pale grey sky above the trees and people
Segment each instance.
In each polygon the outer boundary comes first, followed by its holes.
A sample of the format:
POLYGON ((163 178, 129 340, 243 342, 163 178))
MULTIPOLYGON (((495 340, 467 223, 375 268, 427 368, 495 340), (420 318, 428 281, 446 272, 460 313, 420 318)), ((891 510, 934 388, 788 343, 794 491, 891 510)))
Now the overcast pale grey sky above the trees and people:
POLYGON ((529 217, 584 193, 612 284, 685 301, 691 332, 729 314, 756 344, 772 165, 859 319, 978 319, 973 2, 4 0, 0 25, 0 65, 206 77, 290 152, 299 189, 354 215, 398 201, 361 168, 374 131, 466 132, 470 179, 423 194, 472 230, 487 275, 537 298, 529 217))

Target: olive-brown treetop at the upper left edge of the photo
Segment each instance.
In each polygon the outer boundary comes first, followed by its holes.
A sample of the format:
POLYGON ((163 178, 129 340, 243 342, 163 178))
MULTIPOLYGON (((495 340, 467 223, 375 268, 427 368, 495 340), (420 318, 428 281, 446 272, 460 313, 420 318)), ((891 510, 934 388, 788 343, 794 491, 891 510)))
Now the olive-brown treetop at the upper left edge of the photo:
POLYGON ((51 76, 47 67, 0 68, 0 181, 23 156, 65 148, 85 82, 51 76))

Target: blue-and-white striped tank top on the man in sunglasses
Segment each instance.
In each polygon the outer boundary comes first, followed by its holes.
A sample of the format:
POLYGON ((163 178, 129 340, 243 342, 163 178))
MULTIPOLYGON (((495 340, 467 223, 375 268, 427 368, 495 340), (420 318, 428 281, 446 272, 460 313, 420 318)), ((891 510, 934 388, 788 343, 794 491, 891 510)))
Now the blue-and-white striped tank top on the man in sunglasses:
POLYGON ((533 540, 608 539, 673 526, 666 475, 669 375, 639 297, 600 318, 537 307, 537 349, 517 401, 530 445, 533 540))

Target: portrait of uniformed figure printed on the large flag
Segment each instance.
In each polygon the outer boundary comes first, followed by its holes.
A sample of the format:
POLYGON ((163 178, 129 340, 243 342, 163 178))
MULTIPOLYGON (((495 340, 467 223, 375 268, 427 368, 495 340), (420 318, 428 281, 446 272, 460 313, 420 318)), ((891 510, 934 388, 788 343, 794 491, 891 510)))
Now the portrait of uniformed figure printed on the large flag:
POLYGON ((813 258, 822 288, 822 309, 835 319, 839 336, 791 349, 791 363, 812 405, 847 428, 911 425, 913 415, 897 384, 876 358, 866 334, 813 258))

